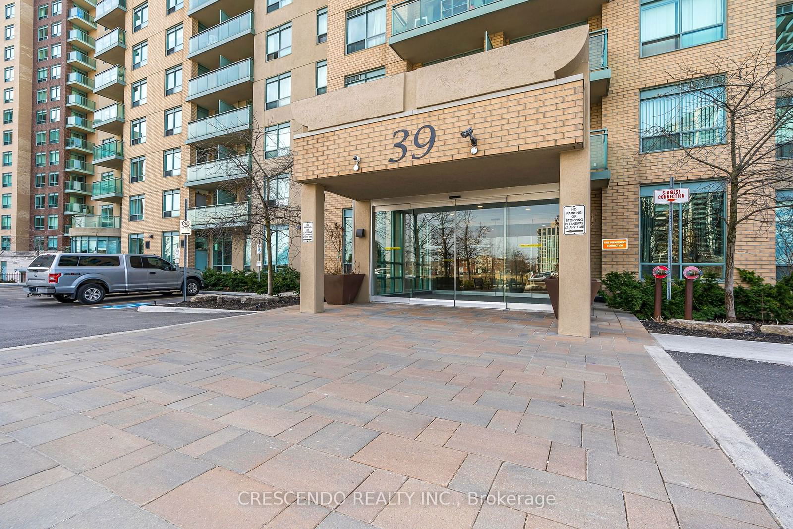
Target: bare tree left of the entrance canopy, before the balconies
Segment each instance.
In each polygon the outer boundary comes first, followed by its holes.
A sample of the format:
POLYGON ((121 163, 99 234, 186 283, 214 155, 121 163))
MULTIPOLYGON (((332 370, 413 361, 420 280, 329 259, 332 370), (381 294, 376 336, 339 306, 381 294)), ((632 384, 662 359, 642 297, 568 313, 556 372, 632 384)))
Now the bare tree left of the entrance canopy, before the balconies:
MULTIPOLYGON (((215 208, 204 221, 213 239, 236 232, 262 240, 266 255, 267 293, 273 293, 277 227, 285 226, 289 246, 301 225, 300 206, 292 179, 294 155, 277 133, 254 123, 250 131, 232 134, 224 144, 200 144, 197 159, 212 161, 204 176, 216 180, 216 197, 234 197, 236 202, 215 208)), ((252 250, 251 250, 252 253, 252 250)))

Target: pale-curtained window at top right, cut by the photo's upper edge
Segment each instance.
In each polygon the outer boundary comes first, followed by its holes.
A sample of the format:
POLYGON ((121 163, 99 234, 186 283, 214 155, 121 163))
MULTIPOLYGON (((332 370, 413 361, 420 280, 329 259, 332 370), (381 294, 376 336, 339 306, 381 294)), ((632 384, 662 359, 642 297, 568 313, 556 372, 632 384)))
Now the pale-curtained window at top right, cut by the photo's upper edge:
POLYGON ((642 56, 724 38, 725 0, 642 0, 642 56))

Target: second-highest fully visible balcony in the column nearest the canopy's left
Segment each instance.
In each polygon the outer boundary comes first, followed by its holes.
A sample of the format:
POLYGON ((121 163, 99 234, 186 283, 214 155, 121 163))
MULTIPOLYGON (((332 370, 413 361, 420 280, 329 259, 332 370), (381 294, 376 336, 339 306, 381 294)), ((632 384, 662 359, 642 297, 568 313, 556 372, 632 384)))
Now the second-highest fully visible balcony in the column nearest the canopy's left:
POLYGON ((190 79, 187 101, 212 108, 221 99, 247 101, 253 97, 253 59, 243 59, 190 79))

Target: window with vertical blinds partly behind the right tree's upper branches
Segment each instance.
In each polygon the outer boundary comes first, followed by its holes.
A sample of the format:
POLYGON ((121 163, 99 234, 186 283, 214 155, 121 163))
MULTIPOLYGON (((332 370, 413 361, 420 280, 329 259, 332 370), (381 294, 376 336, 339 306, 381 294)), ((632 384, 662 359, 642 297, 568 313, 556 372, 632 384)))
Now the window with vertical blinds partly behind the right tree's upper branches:
POLYGON ((697 79, 640 92, 642 152, 722 144, 726 138, 722 78, 697 79))

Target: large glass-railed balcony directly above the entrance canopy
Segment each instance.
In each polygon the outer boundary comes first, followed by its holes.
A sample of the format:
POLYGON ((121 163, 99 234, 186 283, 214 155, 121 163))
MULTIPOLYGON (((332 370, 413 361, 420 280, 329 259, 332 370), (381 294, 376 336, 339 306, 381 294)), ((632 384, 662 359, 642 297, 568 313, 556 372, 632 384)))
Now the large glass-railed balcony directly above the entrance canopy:
POLYGON ((408 0, 391 8, 388 43, 402 59, 427 63, 482 48, 486 31, 533 35, 600 14, 603 0, 408 0))

